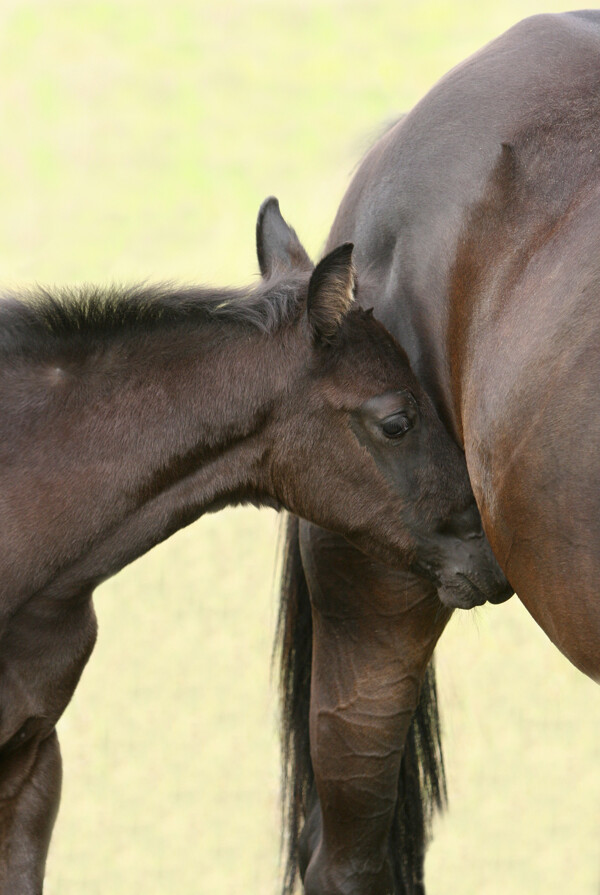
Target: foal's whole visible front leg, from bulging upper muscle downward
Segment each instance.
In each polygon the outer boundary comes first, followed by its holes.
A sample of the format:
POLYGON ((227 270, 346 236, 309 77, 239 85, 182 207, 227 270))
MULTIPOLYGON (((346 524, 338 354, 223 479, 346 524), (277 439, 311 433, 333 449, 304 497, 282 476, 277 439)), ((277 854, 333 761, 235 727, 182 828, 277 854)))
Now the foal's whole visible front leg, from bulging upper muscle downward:
POLYGON ((58 811, 55 725, 96 638, 89 594, 39 597, 0 638, 0 895, 40 895, 58 811))

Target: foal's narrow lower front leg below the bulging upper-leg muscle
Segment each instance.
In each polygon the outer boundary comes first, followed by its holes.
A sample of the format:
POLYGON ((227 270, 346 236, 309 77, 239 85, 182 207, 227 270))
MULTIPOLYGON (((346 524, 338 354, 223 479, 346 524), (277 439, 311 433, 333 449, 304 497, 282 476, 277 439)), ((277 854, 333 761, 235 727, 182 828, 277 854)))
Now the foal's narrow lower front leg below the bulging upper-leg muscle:
POLYGON ((0 801, 0 895, 40 895, 60 802, 56 731, 9 755, 6 764, 0 767, 5 794, 0 801))

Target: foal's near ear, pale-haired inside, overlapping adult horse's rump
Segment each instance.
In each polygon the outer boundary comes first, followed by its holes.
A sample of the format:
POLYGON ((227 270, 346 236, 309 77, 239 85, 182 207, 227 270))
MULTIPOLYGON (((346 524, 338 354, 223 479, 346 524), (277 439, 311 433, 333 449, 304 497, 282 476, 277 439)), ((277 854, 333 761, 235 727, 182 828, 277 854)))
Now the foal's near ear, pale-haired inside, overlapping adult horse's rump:
POLYGON ((332 342, 354 302, 351 242, 338 246, 314 269, 308 284, 308 322, 315 342, 332 342))

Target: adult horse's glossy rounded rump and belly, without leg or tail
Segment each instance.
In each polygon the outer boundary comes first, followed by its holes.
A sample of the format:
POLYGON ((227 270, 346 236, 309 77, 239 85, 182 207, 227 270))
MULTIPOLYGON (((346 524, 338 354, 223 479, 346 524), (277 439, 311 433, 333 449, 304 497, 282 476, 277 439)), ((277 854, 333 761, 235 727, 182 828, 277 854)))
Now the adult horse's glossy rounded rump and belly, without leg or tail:
POLYGON ((539 16, 365 159, 330 241, 463 444, 520 599, 600 678, 600 16, 539 16))

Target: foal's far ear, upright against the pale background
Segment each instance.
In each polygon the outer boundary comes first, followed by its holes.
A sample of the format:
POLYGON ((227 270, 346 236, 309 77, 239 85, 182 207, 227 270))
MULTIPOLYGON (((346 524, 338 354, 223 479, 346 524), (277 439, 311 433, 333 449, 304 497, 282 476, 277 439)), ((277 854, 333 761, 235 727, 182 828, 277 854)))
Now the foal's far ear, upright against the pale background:
POLYGON ((283 273, 300 268, 312 270, 312 261, 306 254, 296 233, 281 216, 275 196, 265 199, 256 222, 256 251, 263 277, 270 277, 277 269, 283 273))

